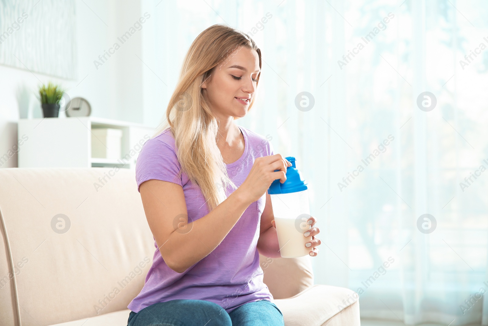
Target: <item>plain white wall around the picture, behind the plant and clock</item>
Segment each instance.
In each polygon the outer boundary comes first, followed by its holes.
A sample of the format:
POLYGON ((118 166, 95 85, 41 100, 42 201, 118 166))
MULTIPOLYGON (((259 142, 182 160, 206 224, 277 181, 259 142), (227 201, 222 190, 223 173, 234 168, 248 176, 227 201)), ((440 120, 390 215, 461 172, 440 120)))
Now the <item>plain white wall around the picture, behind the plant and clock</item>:
MULTIPOLYGON (((136 29, 136 32, 122 44, 117 38, 127 32, 147 11, 141 9, 140 0, 75 2, 76 17, 73 19, 76 21, 78 55, 76 80, 60 79, 27 69, 0 65, 0 156, 11 151, 17 144, 19 118, 42 117, 41 105, 36 98, 37 87, 41 82, 60 83, 62 87, 67 88, 70 97, 86 98, 91 104, 92 116, 147 124, 153 122, 154 126, 157 125, 153 119, 144 119, 142 73, 143 68, 147 67, 137 57, 145 62, 141 54, 142 33, 147 33, 146 30, 152 28, 153 16, 142 24, 141 30, 136 29), (99 55, 109 50, 116 42, 121 45, 120 48, 97 69, 94 60, 99 60, 99 55)), ((42 1, 38 5, 41 6, 42 1)), ((28 20, 24 22, 27 23, 28 20)), ((15 34, 10 37, 15 37, 15 34)), ((61 112, 60 118, 64 116, 64 112, 61 112)), ((17 154, 14 154, 0 167, 17 166, 17 154)))

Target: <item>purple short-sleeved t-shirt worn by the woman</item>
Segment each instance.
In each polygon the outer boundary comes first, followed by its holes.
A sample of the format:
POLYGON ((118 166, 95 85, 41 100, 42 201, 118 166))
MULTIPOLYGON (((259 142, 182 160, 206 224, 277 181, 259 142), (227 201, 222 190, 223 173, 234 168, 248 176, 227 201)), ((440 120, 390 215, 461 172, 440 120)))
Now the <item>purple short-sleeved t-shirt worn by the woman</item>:
MULTIPOLYGON (((244 136, 244 153, 235 162, 226 165, 227 174, 240 186, 249 174, 257 157, 273 155, 271 143, 263 136, 239 126, 244 136)), ((183 187, 188 220, 197 220, 208 214, 208 207, 200 187, 180 171, 175 140, 169 130, 149 139, 142 146, 136 163, 137 187, 150 179, 170 181, 183 187)), ((229 186, 227 194, 234 190, 229 186)), ((183 273, 169 268, 156 248, 153 264, 144 287, 127 306, 139 312, 160 302, 176 299, 206 300, 222 306, 227 312, 238 306, 258 300, 273 302, 273 296, 263 283, 256 245, 259 239, 261 214, 266 193, 244 211, 224 240, 206 257, 183 273)), ((191 232, 191 231, 190 231, 191 232)), ((154 237, 153 237, 154 239, 154 237)))

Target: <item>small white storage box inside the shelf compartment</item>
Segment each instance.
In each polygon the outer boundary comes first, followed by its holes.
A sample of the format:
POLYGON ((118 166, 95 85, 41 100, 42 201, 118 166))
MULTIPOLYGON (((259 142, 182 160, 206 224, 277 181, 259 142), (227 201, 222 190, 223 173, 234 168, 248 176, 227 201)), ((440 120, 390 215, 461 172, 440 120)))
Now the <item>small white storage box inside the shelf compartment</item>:
POLYGON ((92 129, 92 157, 121 158, 122 130, 113 128, 92 129))

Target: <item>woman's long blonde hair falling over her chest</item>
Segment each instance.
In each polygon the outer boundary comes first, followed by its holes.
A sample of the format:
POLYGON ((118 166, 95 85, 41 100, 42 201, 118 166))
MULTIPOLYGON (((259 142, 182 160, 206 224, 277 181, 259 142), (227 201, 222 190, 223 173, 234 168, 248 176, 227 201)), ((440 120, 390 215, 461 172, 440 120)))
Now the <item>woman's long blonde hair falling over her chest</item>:
MULTIPOLYGON (((181 166, 179 176, 184 171, 198 184, 209 211, 228 196, 224 191, 228 185, 237 187, 230 180, 217 147, 219 122, 212 114, 201 86, 207 79, 211 80, 215 68, 223 65, 222 62, 240 46, 258 53, 261 69, 261 50, 247 34, 227 25, 215 24, 198 35, 183 60, 178 84, 166 109, 166 119, 152 136, 168 128, 171 130, 181 166)), ((255 96, 248 110, 254 99, 255 96)))

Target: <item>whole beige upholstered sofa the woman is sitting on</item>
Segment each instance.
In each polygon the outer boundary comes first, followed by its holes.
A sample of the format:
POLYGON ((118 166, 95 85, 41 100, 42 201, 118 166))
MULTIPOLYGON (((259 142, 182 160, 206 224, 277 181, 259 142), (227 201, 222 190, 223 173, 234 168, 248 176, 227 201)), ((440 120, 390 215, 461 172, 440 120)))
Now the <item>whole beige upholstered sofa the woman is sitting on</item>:
MULTIPOLYGON (((134 171, 0 169, 0 220, 1 325, 127 325, 155 250, 134 171)), ((261 257, 285 325, 360 325, 357 295, 313 285, 311 259, 261 257)))

